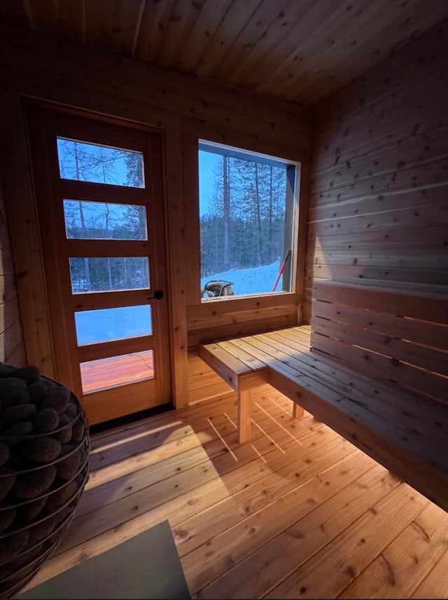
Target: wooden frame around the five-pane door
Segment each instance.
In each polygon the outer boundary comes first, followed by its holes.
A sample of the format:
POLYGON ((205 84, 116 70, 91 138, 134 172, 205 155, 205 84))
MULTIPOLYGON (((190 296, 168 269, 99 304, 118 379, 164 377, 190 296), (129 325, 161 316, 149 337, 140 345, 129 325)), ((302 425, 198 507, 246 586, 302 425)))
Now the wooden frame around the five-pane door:
MULTIPOLYGON (((82 108, 78 108, 78 107, 69 107, 66 105, 62 105, 62 104, 57 104, 55 102, 51 102, 48 100, 41 100, 41 99, 37 99, 34 97, 20 97, 20 105, 21 105, 21 109, 22 109, 22 119, 23 119, 23 125, 24 125, 24 142, 26 144, 26 158, 27 158, 27 165, 29 167, 29 179, 30 179, 30 187, 31 187, 31 199, 32 199, 32 205, 33 205, 33 217, 34 217, 34 223, 37 229, 37 233, 38 233, 38 240, 39 240, 39 246, 38 247, 38 256, 39 256, 39 264, 40 264, 40 275, 41 275, 41 281, 42 281, 42 287, 43 287, 43 293, 45 294, 45 315, 46 315, 46 319, 45 319, 45 323, 44 325, 46 326, 46 329, 48 331, 48 336, 50 339, 50 343, 52 344, 52 340, 53 340, 53 335, 52 335, 52 330, 51 330, 51 320, 50 320, 50 303, 48 300, 48 286, 47 286, 47 281, 45 279, 45 271, 44 271, 44 266, 43 266, 43 249, 40 245, 40 240, 41 240, 41 226, 39 224, 39 220, 38 220, 38 205, 37 205, 37 199, 36 199, 36 191, 35 191, 35 186, 34 186, 34 173, 33 173, 33 169, 32 169, 32 161, 31 161, 31 132, 30 132, 30 128, 29 128, 29 118, 31 116, 31 114, 33 113, 33 111, 39 111, 39 110, 46 110, 46 111, 51 111, 54 114, 64 114, 67 116, 74 116, 74 117, 80 117, 80 118, 85 118, 85 119, 91 119, 94 122, 97 123, 109 123, 111 125, 116 125, 118 127, 123 127, 126 128, 127 130, 129 129, 135 129, 135 130, 139 130, 140 132, 143 133, 148 133, 148 134, 153 134, 153 135, 157 135, 158 138, 160 139, 160 161, 161 161, 161 193, 162 193, 162 210, 163 210, 163 233, 164 233, 164 240, 165 240, 165 259, 166 259, 166 293, 167 293, 167 300, 168 300, 168 320, 169 320, 169 380, 170 380, 170 384, 171 384, 171 389, 172 389, 172 404, 174 404, 174 406, 176 408, 178 407, 183 407, 186 405, 187 402, 187 398, 186 398, 186 386, 179 386, 179 371, 183 371, 185 372, 186 367, 187 367, 187 361, 188 361, 188 357, 187 357, 187 349, 182 348, 181 350, 183 350, 182 354, 184 355, 184 360, 185 360, 185 364, 181 364, 181 369, 177 369, 177 367, 179 367, 179 364, 177 364, 177 362, 174 360, 174 357, 176 356, 176 349, 174 348, 174 344, 173 344, 173 339, 176 336, 176 328, 173 324, 173 313, 179 313, 181 311, 179 311, 179 306, 177 306, 179 304, 179 296, 175 296, 172 293, 172 289, 174 289, 174 285, 173 285, 173 277, 172 277, 172 273, 171 273, 171 264, 172 264, 172 257, 171 257, 171 252, 170 249, 172 247, 173 244, 173 233, 172 233, 172 227, 170 226, 170 221, 172 219, 172 215, 170 214, 170 212, 172 212, 169 208, 169 203, 167 202, 167 197, 168 197, 168 191, 169 188, 171 186, 169 186, 167 184, 167 160, 166 160, 166 152, 167 152, 167 137, 168 138, 172 138, 174 137, 172 135, 172 132, 170 132, 169 130, 167 131, 167 128, 162 128, 162 127, 156 127, 154 125, 148 125, 145 123, 137 123, 135 121, 129 121, 125 118, 120 118, 120 117, 115 117, 115 116, 109 116, 106 114, 102 114, 102 113, 96 113, 96 112, 92 112, 89 111, 87 109, 82 109, 82 108), (177 369, 177 371, 176 371, 177 369)), ((181 136, 179 136, 181 137, 181 136)), ((169 145, 169 142, 168 142, 169 145)), ((181 200, 183 200, 183 198, 181 198, 181 200)), ((20 278, 20 274, 19 278, 20 278)), ((20 292, 19 292, 20 294, 20 292)), ((20 295, 19 295, 19 300, 20 300, 20 295)), ((181 294, 181 300, 185 301, 185 297, 183 294, 181 294)), ((23 302, 26 302, 27 300, 23 300, 23 302)), ((41 307, 43 308, 43 307, 41 307)), ((34 346, 34 344, 33 344, 34 346)), ((27 350, 27 336, 25 335, 25 349, 27 350)), ((179 355, 179 350, 177 352, 177 354, 179 355)), ((27 353, 28 355, 28 353, 27 353)), ((41 367, 41 369, 43 370, 43 372, 49 374, 50 376, 55 376, 55 348, 52 345, 52 347, 50 348, 50 357, 47 356, 43 356, 41 355, 39 358, 41 359, 41 362, 39 363, 39 366, 41 367), (48 358, 50 358, 50 361, 48 361, 48 358), (45 369, 45 363, 46 366, 48 367, 48 369, 45 369), (51 364, 50 364, 51 363, 51 364)), ((36 364, 36 361, 34 361, 34 363, 36 364)))

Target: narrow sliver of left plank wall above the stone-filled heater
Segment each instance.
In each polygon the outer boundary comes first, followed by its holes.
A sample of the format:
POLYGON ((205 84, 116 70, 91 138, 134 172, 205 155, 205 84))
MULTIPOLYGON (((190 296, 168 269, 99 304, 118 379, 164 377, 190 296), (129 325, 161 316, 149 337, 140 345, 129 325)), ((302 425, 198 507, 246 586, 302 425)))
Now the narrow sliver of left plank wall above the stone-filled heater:
POLYGON ((13 253, 0 181, 0 362, 22 367, 25 346, 15 286, 13 253))

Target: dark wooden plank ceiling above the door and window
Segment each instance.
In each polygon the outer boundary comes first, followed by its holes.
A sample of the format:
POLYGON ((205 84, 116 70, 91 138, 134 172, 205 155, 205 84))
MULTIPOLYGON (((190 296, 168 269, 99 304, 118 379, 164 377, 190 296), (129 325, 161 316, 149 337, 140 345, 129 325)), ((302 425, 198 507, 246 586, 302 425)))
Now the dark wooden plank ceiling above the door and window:
POLYGON ((6 26, 314 104, 448 17, 448 0, 1 0, 6 26))

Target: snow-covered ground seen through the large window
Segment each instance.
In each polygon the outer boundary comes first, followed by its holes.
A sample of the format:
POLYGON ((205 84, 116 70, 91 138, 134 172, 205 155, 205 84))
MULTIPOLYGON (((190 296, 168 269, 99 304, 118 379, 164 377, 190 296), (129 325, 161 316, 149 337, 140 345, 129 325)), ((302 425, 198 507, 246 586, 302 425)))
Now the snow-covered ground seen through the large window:
MULTIPOLYGON (((201 280, 201 289, 204 289, 207 281, 222 279, 235 283, 235 285, 232 285, 235 294, 265 294, 266 292, 272 292, 279 268, 279 261, 255 268, 230 268, 229 271, 203 277, 201 280)), ((280 278, 277 284, 276 292, 281 290, 281 280, 282 278, 280 278)))

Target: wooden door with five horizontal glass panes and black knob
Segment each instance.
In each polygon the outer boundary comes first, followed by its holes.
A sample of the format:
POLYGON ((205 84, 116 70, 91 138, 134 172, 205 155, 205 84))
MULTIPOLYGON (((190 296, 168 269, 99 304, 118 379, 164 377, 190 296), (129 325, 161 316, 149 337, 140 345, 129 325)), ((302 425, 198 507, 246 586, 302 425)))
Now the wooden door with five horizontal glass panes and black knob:
POLYGON ((36 107, 29 132, 57 378, 92 424, 169 402, 160 135, 36 107))

